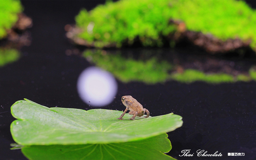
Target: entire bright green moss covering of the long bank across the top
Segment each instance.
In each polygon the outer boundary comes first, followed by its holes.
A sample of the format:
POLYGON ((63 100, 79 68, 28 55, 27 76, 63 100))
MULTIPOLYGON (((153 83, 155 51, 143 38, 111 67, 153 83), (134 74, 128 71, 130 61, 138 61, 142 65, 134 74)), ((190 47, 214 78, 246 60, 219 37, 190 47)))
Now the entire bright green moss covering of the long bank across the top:
MULTIPOLYGON (((256 11, 244 1, 108 1, 75 17, 83 29, 78 36, 95 47, 133 44, 161 47, 177 28, 170 19, 182 20, 187 30, 212 34, 221 40, 251 40, 256 48, 256 11)), ((170 42, 172 43, 172 42, 170 42)))

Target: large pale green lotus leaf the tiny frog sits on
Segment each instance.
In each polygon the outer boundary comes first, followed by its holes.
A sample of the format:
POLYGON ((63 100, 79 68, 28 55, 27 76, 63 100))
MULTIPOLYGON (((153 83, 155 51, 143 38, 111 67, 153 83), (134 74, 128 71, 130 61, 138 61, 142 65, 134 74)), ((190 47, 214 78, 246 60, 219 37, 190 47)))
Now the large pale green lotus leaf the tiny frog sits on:
POLYGON ((129 120, 117 118, 122 111, 48 108, 25 99, 11 106, 17 120, 11 124, 16 143, 28 145, 107 144, 158 136, 182 126, 182 117, 172 113, 129 120))

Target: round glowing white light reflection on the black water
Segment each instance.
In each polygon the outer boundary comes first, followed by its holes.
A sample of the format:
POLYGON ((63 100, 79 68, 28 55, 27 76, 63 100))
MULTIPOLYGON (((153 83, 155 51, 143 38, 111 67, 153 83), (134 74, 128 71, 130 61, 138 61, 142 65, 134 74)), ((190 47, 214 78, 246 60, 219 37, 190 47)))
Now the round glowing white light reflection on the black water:
POLYGON ((109 72, 98 67, 88 67, 78 78, 77 91, 88 105, 105 106, 114 100, 117 82, 109 72))

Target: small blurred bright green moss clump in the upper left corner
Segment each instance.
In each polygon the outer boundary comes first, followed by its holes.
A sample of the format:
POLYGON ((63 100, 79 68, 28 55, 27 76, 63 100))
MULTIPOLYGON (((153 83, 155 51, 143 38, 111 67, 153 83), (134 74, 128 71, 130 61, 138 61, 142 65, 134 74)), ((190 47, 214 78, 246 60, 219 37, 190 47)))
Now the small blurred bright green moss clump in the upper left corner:
POLYGON ((20 1, 0 0, 0 40, 5 38, 7 30, 13 27, 22 10, 20 1))

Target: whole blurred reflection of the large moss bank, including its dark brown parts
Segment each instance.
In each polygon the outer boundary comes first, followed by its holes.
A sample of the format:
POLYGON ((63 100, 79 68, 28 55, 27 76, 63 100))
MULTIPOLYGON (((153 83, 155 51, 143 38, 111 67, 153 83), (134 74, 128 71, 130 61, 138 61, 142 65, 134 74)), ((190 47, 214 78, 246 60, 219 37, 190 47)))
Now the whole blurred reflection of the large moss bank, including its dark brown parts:
POLYGON ((256 80, 253 59, 228 60, 223 57, 188 54, 174 49, 87 49, 83 56, 111 72, 122 82, 155 84, 168 80, 212 84, 256 80))

